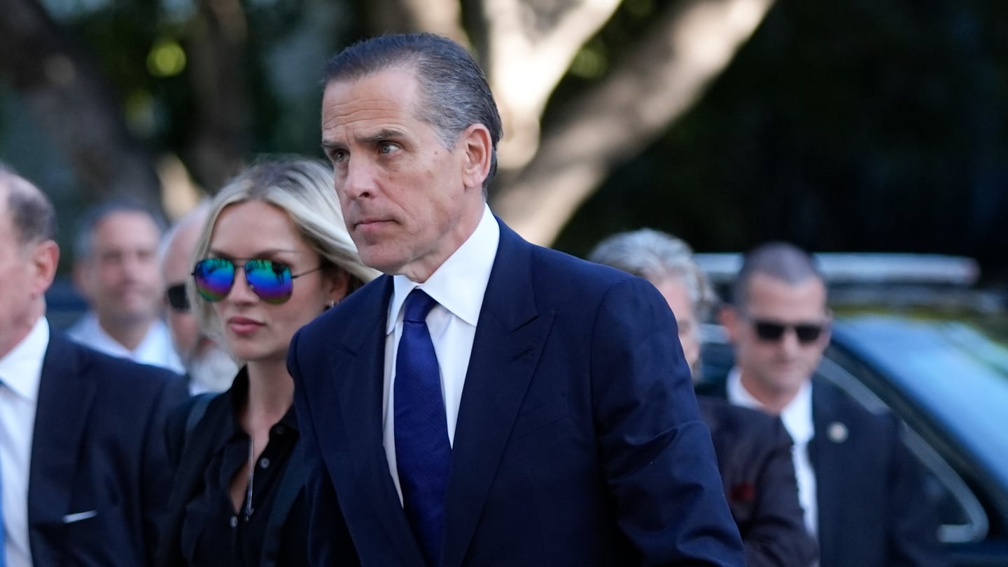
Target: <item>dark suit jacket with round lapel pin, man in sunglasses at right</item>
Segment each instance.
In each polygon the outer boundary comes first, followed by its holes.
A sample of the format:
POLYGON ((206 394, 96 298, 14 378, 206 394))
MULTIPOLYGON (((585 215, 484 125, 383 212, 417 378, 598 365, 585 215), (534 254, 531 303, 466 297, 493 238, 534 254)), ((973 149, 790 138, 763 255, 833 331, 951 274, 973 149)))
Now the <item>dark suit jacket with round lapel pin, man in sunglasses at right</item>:
MULTIPOLYGON (((725 396, 725 384, 702 391, 725 396)), ((946 565, 937 518, 899 423, 812 380, 821 567, 946 565)))

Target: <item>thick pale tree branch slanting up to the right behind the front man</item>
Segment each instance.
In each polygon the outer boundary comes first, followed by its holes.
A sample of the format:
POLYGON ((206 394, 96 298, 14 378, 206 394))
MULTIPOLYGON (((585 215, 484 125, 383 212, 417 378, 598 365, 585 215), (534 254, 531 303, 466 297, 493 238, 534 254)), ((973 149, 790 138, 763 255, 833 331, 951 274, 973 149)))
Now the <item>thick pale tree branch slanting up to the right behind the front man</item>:
POLYGON ((493 208, 532 242, 548 245, 622 160, 684 113, 731 62, 773 0, 690 0, 655 28, 543 134, 535 158, 497 188, 493 208))

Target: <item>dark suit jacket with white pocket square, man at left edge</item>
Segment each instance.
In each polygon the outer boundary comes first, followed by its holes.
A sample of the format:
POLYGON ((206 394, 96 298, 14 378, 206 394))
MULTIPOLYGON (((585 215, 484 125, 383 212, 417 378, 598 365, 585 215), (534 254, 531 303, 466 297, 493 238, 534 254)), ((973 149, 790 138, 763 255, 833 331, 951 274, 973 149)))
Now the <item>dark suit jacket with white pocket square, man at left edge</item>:
POLYGON ((164 418, 187 395, 185 382, 167 370, 96 352, 51 330, 28 478, 35 565, 153 561, 171 485, 164 418))

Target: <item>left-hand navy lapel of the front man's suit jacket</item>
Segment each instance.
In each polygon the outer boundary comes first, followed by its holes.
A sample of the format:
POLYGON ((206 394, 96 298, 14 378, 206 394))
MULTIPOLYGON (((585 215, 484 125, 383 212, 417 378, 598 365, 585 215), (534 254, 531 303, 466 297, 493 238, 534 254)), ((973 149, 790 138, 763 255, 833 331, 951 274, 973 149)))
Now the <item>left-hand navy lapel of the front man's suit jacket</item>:
MULTIPOLYGON (((334 389, 320 390, 317 400, 339 400, 354 474, 367 479, 375 515, 403 563, 412 565, 422 562, 422 556, 392 482, 382 435, 387 318, 384 314, 392 294, 392 278, 385 276, 376 284, 356 292, 371 296, 362 298, 364 301, 356 313, 340 317, 340 321, 355 322, 334 333, 341 338, 329 349, 329 368, 339 372, 341 377, 320 380, 321 387, 334 389), (375 313, 383 316, 374 317, 375 313)), ((346 463, 336 462, 347 456, 338 446, 340 441, 326 435, 320 435, 319 439, 327 447, 323 455, 329 470, 345 468, 346 463)))

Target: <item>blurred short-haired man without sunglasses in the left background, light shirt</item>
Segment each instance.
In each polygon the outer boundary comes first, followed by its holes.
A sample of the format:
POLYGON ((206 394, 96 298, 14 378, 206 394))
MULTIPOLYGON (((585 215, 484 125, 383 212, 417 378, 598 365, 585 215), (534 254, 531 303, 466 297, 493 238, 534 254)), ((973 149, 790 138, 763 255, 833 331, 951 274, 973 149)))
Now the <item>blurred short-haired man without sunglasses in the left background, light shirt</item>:
POLYGON ((74 284, 90 311, 69 333, 102 352, 182 373, 160 318, 161 231, 157 216, 139 203, 110 201, 85 214, 76 241, 74 284))

